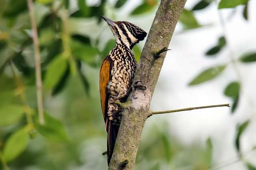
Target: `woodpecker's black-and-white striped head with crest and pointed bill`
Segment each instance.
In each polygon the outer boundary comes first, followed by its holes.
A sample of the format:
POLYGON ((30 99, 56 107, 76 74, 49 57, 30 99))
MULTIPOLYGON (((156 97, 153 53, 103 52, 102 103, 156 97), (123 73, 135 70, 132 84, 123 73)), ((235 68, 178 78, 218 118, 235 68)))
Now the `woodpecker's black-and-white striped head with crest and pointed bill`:
POLYGON ((127 21, 112 21, 105 16, 102 16, 102 18, 108 23, 108 26, 115 36, 116 43, 126 45, 130 49, 132 49, 136 43, 142 41, 147 35, 143 29, 133 23, 127 21))

